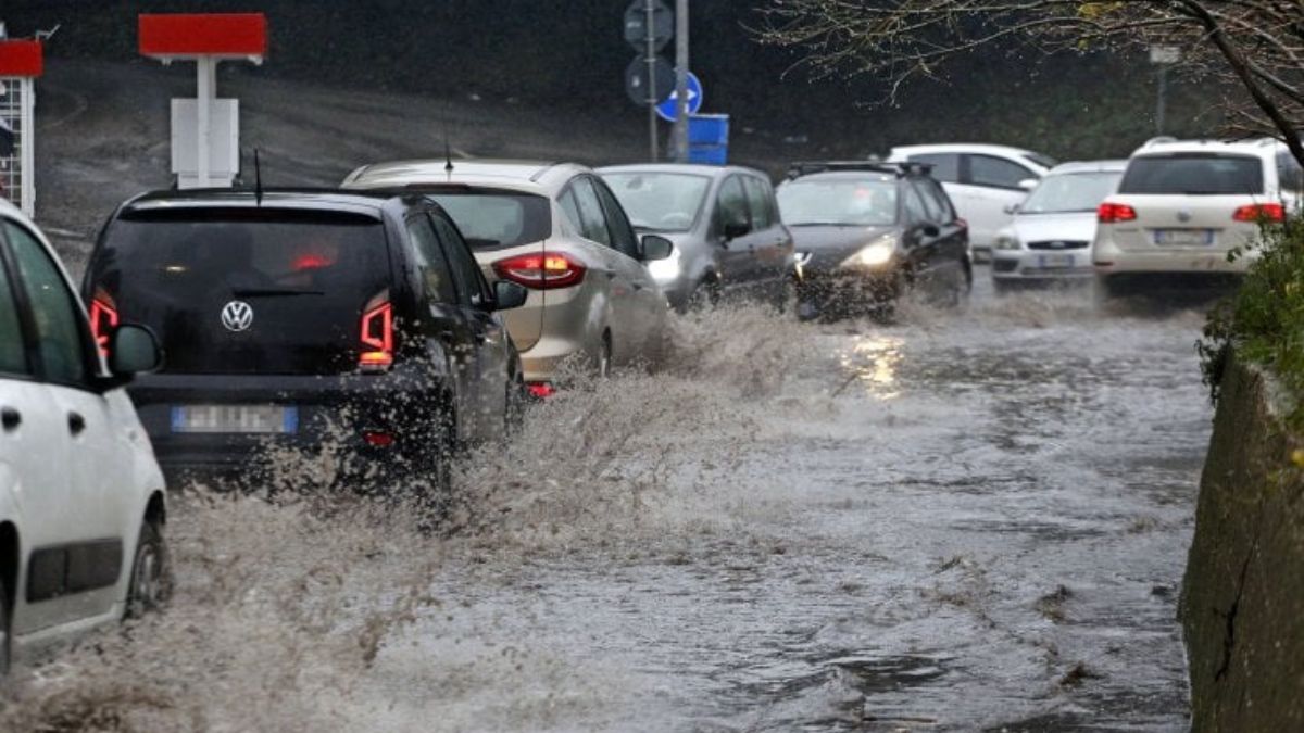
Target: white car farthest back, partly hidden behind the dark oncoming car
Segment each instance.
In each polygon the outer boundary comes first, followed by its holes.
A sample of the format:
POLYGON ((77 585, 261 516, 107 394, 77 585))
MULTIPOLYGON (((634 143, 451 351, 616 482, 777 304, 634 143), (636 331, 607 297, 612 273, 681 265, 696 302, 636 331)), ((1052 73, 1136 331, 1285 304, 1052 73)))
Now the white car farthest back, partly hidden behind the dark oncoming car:
POLYGON ((906 145, 888 153, 892 163, 918 162, 932 166, 960 217, 969 222, 969 244, 986 253, 996 233, 1009 224, 1012 206, 1022 203, 1055 160, 1005 145, 945 143, 906 145))

